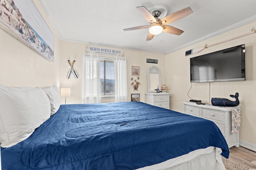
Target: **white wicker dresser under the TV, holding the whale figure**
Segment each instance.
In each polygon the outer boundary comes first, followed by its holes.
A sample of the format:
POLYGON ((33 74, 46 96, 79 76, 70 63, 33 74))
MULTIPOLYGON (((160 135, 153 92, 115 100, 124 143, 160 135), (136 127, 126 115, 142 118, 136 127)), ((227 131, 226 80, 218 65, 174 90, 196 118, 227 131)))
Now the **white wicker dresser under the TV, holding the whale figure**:
POLYGON ((213 121, 222 132, 228 143, 228 147, 239 147, 239 133, 231 133, 232 113, 230 108, 183 102, 183 112, 213 121))

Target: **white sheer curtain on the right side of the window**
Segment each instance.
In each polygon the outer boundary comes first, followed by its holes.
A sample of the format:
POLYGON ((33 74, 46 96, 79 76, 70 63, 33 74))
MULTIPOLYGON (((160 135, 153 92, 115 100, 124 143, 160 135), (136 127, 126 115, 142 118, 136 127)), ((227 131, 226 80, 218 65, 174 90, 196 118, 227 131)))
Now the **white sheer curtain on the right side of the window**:
POLYGON ((115 57, 115 102, 127 102, 126 58, 115 57))

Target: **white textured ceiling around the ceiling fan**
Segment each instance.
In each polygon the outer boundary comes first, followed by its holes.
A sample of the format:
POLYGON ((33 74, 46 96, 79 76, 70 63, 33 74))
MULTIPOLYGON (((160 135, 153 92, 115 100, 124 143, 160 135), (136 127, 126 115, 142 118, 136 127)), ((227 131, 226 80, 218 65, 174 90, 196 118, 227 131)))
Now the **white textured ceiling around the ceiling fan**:
POLYGON ((40 1, 61 40, 164 54, 256 21, 256 0, 40 1), (172 35, 162 32, 152 41, 146 41, 148 29, 123 31, 129 27, 149 25, 136 7, 150 8, 154 5, 165 6, 167 15, 190 7, 192 14, 168 24, 182 29, 184 33, 172 35))

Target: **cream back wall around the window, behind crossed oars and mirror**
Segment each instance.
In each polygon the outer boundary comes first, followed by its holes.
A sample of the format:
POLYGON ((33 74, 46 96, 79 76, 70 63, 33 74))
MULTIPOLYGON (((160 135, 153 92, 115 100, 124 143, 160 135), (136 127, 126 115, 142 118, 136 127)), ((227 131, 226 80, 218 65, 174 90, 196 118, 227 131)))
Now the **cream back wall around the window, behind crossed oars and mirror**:
MULTIPOLYGON (((86 44, 84 43, 73 43, 67 41, 61 41, 61 66, 60 66, 60 82, 61 87, 71 88, 71 96, 70 98, 66 98, 67 104, 75 104, 82 102, 82 57, 85 51, 86 44), (79 74, 79 78, 75 79, 72 76, 70 79, 66 78, 66 74, 70 69, 67 61, 75 60, 74 68, 77 70, 79 74)), ((95 47, 103 47, 96 46, 95 47)), ((103 47, 104 48, 104 47, 103 47)), ((106 48, 106 47, 105 47, 106 48)), ((110 47, 108 47, 110 48, 110 47)), ((114 48, 110 48, 114 49, 114 48)), ((139 93, 140 101, 145 101, 145 93, 148 92, 148 79, 147 79, 147 68, 152 65, 157 66, 162 70, 162 83, 165 83, 165 64, 164 64, 164 54, 158 53, 149 53, 144 51, 136 51, 136 50, 128 50, 128 49, 117 49, 124 51, 124 55, 127 59, 127 95, 128 101, 131 100, 131 94, 139 93), (158 59, 158 64, 146 63, 146 59, 158 59), (140 79, 137 79, 137 76, 132 76, 132 66, 140 66, 140 79), (134 82, 130 78, 136 78, 138 82, 140 82, 140 86, 138 91, 134 91, 131 84, 134 82)), ((113 57, 108 55, 100 55, 101 57, 113 57)), ((62 103, 64 99, 62 99, 62 103)), ((102 103, 104 102, 115 102, 114 99, 102 99, 102 103)))

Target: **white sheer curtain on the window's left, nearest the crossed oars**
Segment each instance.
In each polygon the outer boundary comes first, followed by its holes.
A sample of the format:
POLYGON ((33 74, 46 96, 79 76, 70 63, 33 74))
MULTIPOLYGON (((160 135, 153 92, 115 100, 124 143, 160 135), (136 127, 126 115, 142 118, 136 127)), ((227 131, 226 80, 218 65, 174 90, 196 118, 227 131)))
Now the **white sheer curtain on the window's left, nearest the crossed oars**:
POLYGON ((82 103, 100 103, 100 58, 98 55, 83 57, 82 103))

